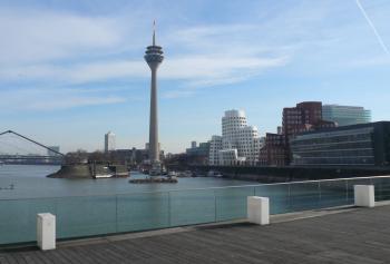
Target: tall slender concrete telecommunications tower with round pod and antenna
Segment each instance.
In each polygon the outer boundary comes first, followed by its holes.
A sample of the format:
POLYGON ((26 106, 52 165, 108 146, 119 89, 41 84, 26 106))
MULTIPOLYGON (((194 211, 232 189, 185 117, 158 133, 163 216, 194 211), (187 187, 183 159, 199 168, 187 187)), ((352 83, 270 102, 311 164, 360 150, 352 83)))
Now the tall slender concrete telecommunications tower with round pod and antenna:
POLYGON ((150 81, 150 124, 149 124, 149 159, 152 168, 159 166, 158 149, 158 109, 157 109, 157 69, 163 62, 163 48, 156 45, 155 22, 153 23, 153 42, 148 46, 144 56, 152 71, 150 81))

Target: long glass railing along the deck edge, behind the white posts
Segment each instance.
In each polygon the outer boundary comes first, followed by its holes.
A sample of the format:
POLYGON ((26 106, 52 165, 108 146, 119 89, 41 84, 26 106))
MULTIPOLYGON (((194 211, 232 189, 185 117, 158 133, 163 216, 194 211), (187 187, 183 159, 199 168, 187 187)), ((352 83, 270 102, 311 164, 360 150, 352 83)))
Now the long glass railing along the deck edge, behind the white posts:
POLYGON ((270 198, 271 214, 353 204, 353 185, 390 199, 390 176, 97 196, 0 199, 0 244, 36 241, 38 213, 57 217, 57 237, 72 238, 246 218, 247 196, 270 198))

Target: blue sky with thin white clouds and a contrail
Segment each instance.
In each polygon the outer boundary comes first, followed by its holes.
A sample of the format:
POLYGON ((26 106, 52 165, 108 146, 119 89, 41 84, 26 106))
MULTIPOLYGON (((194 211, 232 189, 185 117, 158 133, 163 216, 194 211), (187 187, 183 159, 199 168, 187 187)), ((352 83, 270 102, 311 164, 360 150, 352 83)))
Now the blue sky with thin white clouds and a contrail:
POLYGON ((166 153, 243 109, 261 135, 304 100, 390 119, 388 0, 1 0, 0 130, 61 151, 148 140, 153 20, 166 153))

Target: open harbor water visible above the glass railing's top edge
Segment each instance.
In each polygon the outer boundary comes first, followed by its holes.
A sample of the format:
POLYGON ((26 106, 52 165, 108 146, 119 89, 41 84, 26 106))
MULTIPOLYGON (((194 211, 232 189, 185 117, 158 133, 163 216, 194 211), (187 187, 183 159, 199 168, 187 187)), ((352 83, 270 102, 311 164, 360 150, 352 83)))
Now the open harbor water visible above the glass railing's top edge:
MULTIPOLYGON (((0 166, 0 199, 115 195, 254 184, 253 182, 214 177, 179 178, 177 184, 129 184, 129 178, 66 179, 46 177, 59 168, 59 166, 35 165, 0 166)), ((130 175, 130 178, 145 177, 138 172, 131 172, 130 175)))

